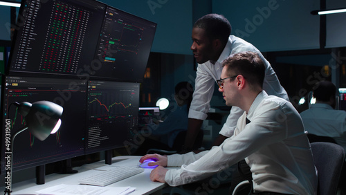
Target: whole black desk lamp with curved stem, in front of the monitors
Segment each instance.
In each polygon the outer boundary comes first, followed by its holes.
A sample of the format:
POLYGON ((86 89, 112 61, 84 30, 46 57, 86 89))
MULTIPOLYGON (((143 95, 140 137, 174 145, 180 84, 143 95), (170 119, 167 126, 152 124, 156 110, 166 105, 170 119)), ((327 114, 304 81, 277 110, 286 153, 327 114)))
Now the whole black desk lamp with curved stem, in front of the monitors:
POLYGON ((10 152, 6 152, 6 156, 10 154, 10 171, 6 171, 5 194, 7 193, 9 195, 12 192, 13 141, 15 137, 19 133, 29 129, 36 138, 41 141, 45 140, 50 134, 55 133, 59 129, 61 124, 60 117, 63 111, 62 106, 48 101, 39 101, 33 104, 29 102, 21 102, 21 104, 15 102, 14 104, 18 107, 19 113, 23 115, 26 126, 13 134, 10 142, 10 152))

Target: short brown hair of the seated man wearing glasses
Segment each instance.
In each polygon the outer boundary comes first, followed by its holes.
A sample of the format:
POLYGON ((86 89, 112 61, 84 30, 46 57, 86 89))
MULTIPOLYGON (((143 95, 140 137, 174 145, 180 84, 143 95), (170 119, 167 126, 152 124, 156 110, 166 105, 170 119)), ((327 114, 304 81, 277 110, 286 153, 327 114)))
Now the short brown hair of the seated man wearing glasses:
POLYGON ((236 53, 225 59, 223 66, 227 66, 228 76, 243 75, 250 86, 263 87, 266 66, 257 53, 236 53), (230 75, 230 71, 233 75, 230 75))

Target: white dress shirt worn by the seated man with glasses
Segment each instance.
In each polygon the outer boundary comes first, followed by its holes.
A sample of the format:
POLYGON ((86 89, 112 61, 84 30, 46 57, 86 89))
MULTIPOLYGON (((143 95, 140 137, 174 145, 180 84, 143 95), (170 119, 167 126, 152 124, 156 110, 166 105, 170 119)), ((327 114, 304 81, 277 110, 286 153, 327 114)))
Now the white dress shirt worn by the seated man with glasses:
POLYGON ((251 167, 255 192, 316 194, 317 171, 298 111, 265 91, 244 112, 232 137, 199 154, 168 156, 165 181, 172 186, 201 180, 244 159, 251 167), (245 124, 246 117, 251 121, 245 124))

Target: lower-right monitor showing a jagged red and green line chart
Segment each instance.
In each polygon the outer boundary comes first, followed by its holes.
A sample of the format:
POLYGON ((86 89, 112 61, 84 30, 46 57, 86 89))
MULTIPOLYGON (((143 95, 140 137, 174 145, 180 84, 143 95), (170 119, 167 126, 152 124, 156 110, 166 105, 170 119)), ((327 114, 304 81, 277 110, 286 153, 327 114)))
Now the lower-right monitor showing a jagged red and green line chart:
POLYGON ((138 128, 139 84, 90 80, 85 153, 124 147, 138 128))

